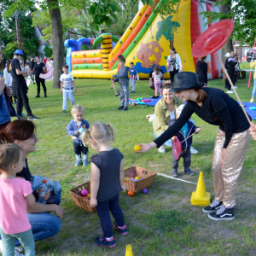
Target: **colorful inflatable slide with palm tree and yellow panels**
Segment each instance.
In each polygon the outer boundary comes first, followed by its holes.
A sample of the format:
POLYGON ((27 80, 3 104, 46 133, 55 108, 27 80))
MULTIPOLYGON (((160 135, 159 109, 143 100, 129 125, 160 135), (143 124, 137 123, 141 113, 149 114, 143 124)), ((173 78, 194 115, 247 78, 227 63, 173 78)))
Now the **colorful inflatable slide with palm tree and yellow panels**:
MULTIPOLYGON (((161 8, 164 0, 160 0, 156 7, 161 8)), ((204 32, 208 26, 202 11, 216 11, 213 7, 216 1, 199 2, 197 0, 177 0, 176 14, 169 15, 162 20, 160 15, 154 12, 154 8, 144 5, 131 21, 121 38, 102 34, 99 38, 75 39, 65 42, 67 46, 67 65, 71 67, 74 78, 110 79, 110 76, 118 72, 118 56, 124 55, 126 66, 134 62, 141 79, 147 79, 152 71, 153 64, 160 64, 165 72, 165 78, 169 79, 166 70, 166 60, 169 55, 170 45, 173 45, 184 62, 183 71, 195 72, 196 59, 191 55, 191 48, 196 38, 204 32), (176 28, 172 33, 172 27, 176 28), (113 44, 117 42, 117 44, 113 44), (76 47, 74 47, 74 44, 76 47), (81 44, 101 44, 101 49, 80 50, 81 44)), ((207 56, 208 79, 217 79, 221 76, 221 67, 218 65, 215 55, 207 56)))

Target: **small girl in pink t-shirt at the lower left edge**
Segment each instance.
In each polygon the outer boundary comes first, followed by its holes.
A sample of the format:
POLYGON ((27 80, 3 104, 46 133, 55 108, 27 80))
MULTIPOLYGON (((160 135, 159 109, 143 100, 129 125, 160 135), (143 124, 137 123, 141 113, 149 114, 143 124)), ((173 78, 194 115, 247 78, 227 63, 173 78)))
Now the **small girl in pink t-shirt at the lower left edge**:
POLYGON ((35 243, 26 208, 35 204, 32 185, 16 177, 25 166, 23 150, 15 144, 0 145, 0 234, 3 255, 15 255, 18 239, 26 256, 35 255, 35 243))

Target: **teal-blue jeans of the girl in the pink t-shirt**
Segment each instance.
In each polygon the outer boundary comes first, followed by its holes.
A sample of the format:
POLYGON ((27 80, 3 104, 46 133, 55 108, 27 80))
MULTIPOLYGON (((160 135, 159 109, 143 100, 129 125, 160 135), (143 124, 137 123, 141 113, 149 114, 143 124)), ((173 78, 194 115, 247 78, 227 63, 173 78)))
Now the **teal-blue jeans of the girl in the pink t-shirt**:
POLYGON ((25 232, 7 235, 0 228, 0 234, 3 240, 3 256, 14 256, 15 255, 15 242, 19 239, 22 247, 24 248, 26 256, 34 256, 35 253, 35 242, 33 240, 32 230, 25 232))

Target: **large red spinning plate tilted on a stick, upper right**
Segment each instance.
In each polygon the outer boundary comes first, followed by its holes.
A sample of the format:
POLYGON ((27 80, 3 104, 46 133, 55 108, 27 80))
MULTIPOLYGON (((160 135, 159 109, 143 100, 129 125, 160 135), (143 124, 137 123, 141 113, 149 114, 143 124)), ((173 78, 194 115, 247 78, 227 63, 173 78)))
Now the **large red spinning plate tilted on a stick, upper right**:
POLYGON ((195 58, 201 58, 221 49, 230 38, 233 29, 233 20, 221 20, 210 26, 196 39, 192 48, 192 55, 195 58))

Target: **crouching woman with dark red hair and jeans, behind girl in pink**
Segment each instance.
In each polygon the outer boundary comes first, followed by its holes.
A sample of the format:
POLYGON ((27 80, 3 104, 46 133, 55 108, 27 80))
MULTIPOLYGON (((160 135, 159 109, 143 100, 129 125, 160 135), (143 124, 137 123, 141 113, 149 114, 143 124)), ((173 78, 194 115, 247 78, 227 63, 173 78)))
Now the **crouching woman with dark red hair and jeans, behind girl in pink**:
MULTIPOLYGON (((36 127, 32 121, 17 119, 7 125, 3 131, 0 131, 0 141, 1 143, 15 143, 19 145, 23 149, 23 154, 26 158, 28 154, 36 150, 36 144, 39 139, 36 135, 36 127)), ((38 199, 38 185, 42 184, 44 177, 32 176, 27 165, 27 159, 25 163, 26 167, 24 167, 20 173, 17 173, 17 176, 23 177, 32 183, 33 195, 38 199), (40 180, 41 183, 39 183, 40 180)), ((36 209, 33 209, 32 212, 27 212, 29 222, 32 225, 34 241, 40 241, 55 236, 61 230, 63 209, 58 206, 61 202, 61 191, 57 191, 55 183, 49 181, 49 179, 47 179, 47 183, 50 185, 48 186, 49 190, 53 190, 47 192, 45 195, 46 204, 38 203, 36 209), (49 212, 55 212, 58 217, 49 214, 49 212)), ((56 185, 58 186, 58 184, 56 185)), ((15 246, 20 246, 18 240, 15 246)), ((0 252, 1 251, 2 248, 0 247, 0 252)))

